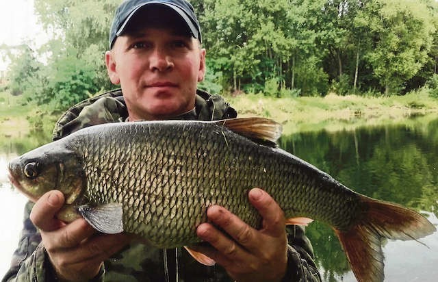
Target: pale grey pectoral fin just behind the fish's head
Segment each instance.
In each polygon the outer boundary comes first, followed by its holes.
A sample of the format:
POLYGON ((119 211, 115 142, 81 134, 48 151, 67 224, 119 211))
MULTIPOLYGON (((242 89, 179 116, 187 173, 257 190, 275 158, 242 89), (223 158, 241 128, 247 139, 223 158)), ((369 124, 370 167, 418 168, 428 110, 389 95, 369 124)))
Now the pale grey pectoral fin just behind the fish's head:
POLYGON ((79 214, 101 233, 116 234, 123 232, 123 209, 119 203, 110 203, 96 207, 81 205, 79 214))

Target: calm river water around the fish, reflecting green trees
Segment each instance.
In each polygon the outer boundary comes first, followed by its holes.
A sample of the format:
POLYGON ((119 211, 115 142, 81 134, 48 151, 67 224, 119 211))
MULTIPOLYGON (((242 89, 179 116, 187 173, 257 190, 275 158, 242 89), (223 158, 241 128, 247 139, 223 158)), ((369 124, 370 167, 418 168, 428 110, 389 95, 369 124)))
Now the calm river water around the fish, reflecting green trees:
MULTIPOLYGON (((0 276, 8 269, 18 242, 26 201, 11 189, 6 165, 12 157, 49 139, 48 134, 39 132, 5 136, 0 129, 0 276)), ((438 226, 438 120, 294 133, 283 136, 280 143, 352 190, 411 207, 438 226)), ((307 235, 324 281, 356 281, 330 227, 313 222, 307 235)), ((436 281, 438 233, 420 242, 384 242, 385 281, 436 281)))

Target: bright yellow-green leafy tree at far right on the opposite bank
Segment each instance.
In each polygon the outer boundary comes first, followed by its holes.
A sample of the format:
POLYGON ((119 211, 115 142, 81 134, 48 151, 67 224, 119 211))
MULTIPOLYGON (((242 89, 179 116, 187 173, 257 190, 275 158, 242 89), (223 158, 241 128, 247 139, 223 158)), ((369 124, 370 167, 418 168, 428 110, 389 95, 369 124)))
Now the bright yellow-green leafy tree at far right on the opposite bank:
POLYGON ((366 55, 385 94, 402 90, 420 71, 436 32, 430 12, 421 1, 375 0, 377 14, 368 10, 373 46, 366 55))

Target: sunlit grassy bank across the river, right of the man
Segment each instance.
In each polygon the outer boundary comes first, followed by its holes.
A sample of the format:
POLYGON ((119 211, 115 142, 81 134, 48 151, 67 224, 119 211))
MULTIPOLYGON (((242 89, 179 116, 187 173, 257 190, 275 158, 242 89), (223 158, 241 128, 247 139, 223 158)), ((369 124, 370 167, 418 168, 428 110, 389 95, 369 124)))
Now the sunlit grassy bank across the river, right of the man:
POLYGON ((355 95, 272 99, 261 94, 227 97, 240 116, 265 116, 283 124, 283 133, 352 130, 363 125, 407 123, 411 116, 437 118, 438 99, 426 90, 392 97, 355 95))

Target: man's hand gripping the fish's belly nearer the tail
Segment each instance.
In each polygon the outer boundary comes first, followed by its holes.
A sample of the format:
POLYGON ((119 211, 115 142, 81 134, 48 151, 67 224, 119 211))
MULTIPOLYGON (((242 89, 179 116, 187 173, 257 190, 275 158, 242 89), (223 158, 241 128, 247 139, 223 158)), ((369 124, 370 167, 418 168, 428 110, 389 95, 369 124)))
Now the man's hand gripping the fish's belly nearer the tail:
POLYGON ((207 210, 208 218, 228 235, 203 223, 197 229, 198 237, 214 248, 195 250, 214 259, 236 281, 281 281, 287 267, 283 211, 269 194, 258 188, 250 190, 249 200, 263 218, 260 230, 246 225, 227 209, 212 206, 207 210))

